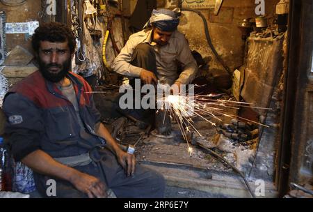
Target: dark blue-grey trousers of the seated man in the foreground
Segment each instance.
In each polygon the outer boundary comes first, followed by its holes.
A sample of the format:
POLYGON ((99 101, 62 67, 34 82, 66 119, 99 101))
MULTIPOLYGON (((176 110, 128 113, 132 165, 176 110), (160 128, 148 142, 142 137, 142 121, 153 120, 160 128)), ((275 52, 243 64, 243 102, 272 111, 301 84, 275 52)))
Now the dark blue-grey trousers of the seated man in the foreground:
MULTIPOLYGON (((125 174, 125 170, 118 163, 115 155, 109 149, 93 149, 90 151, 90 162, 86 166, 74 167, 80 172, 93 175, 106 183, 107 188, 111 188, 118 198, 161 198, 163 197, 165 181, 161 174, 141 165, 136 165, 134 176, 125 174)), ((35 174, 36 186, 43 197, 47 197, 46 185, 49 176, 35 174)), ((58 198, 86 198, 67 181, 54 179, 56 181, 56 196, 58 198)), ((53 196, 51 196, 53 197, 53 196)))

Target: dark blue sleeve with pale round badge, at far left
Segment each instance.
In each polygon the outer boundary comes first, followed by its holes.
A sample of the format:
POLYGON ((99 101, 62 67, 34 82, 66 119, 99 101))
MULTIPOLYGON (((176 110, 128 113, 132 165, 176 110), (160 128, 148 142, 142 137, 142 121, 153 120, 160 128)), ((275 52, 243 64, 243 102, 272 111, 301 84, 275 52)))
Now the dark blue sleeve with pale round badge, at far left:
POLYGON ((9 93, 3 102, 6 114, 5 132, 16 161, 40 149, 40 137, 44 132, 42 112, 28 98, 9 93))

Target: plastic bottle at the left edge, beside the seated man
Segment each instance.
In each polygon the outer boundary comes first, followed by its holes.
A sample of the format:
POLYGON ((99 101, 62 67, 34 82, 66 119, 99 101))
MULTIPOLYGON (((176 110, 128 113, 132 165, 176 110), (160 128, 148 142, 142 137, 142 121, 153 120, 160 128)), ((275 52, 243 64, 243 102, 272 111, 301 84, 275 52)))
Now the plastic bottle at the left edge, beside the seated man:
POLYGON ((10 163, 10 154, 4 145, 3 137, 0 137, 0 190, 12 190, 12 167, 10 163))

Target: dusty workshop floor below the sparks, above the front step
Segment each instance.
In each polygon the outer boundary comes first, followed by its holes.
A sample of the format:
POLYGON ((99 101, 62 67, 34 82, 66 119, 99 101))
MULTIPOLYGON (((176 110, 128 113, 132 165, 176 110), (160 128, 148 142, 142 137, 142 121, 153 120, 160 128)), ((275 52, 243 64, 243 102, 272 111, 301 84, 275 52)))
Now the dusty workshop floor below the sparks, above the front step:
MULTIPOLYGON (((200 135, 194 134, 193 141, 199 142, 231 162, 241 171, 247 171, 250 166, 251 157, 255 153, 257 139, 248 142, 232 142, 231 139, 218 141, 218 133, 214 126, 205 121, 198 121, 200 135)), ((155 162, 159 164, 186 165, 200 169, 214 169, 232 172, 232 169, 223 162, 214 158, 198 146, 187 144, 179 131, 177 124, 172 124, 172 137, 157 137, 150 133, 149 137, 140 139, 144 130, 137 128, 129 121, 125 128, 117 135, 118 141, 122 144, 136 144, 136 157, 141 162, 155 162), (139 139, 139 142, 138 142, 139 139), (188 151, 191 147, 192 153, 188 151)))

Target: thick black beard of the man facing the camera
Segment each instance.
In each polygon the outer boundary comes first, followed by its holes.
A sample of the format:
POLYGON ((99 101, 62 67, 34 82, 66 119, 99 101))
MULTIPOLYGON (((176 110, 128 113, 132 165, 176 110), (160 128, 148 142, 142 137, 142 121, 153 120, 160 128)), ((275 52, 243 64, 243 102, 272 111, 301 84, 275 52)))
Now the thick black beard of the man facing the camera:
POLYGON ((71 58, 67 59, 64 63, 45 63, 38 58, 39 70, 42 76, 50 82, 60 82, 70 70, 71 58), (59 68, 58 72, 52 72, 50 68, 59 68))

